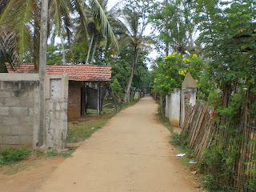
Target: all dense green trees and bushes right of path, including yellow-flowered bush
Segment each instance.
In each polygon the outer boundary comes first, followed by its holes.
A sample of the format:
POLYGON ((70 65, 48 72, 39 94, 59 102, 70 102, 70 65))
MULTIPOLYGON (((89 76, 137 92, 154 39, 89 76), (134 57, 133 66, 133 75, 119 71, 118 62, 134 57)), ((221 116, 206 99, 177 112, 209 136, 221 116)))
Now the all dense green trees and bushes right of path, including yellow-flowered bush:
MULTIPOLYGON (((189 72, 197 82, 198 100, 213 107, 217 133, 198 162, 205 187, 255 191, 256 2, 202 0, 155 5, 150 21, 166 54, 155 61, 152 92, 160 100, 162 115, 165 96, 174 88, 181 89, 189 72), (197 32, 198 37, 193 38, 197 32)), ((174 145, 186 146, 186 133, 172 137, 174 145)))

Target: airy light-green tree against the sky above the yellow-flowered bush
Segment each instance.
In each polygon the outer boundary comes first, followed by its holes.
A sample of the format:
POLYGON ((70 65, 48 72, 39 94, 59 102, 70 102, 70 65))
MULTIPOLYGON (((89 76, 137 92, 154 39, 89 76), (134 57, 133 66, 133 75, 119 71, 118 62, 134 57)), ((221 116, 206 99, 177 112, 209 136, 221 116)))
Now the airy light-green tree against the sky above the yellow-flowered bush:
MULTIPOLYGON (((178 54, 194 52, 192 35, 195 30, 194 11, 191 10, 191 1, 169 1, 161 4, 155 2, 150 14, 150 22, 154 31, 158 31, 156 40, 158 48, 178 54), (166 47, 162 47, 162 43, 166 47)), ((153 34, 155 36, 155 34, 153 34)))

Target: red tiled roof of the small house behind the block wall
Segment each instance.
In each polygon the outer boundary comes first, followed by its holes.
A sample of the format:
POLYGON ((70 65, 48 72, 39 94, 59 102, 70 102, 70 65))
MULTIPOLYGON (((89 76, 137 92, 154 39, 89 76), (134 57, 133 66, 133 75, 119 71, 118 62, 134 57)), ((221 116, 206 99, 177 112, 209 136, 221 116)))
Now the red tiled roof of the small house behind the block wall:
MULTIPOLYGON (((34 74, 33 64, 11 66, 6 63, 8 73, 34 74)), ((46 65, 46 74, 68 74, 69 80, 78 82, 110 82, 111 66, 96 65, 46 65)))

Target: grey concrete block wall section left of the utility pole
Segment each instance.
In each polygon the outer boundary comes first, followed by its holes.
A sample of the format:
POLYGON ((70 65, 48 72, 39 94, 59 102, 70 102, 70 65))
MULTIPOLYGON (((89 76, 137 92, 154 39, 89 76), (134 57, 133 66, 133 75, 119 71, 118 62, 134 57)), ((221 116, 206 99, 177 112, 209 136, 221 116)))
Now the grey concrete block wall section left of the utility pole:
POLYGON ((1 74, 0 147, 37 144, 38 74, 1 74))

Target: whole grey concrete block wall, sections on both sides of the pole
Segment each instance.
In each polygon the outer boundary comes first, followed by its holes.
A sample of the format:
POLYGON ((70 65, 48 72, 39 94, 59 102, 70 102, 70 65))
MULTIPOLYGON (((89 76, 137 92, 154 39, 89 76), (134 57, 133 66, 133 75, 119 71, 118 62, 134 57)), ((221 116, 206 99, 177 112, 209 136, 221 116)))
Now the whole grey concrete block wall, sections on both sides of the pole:
MULTIPOLYGON (((0 147, 38 147, 38 74, 1 74, 0 147)), ((66 148, 68 77, 46 75, 46 127, 43 141, 47 147, 66 148)))

